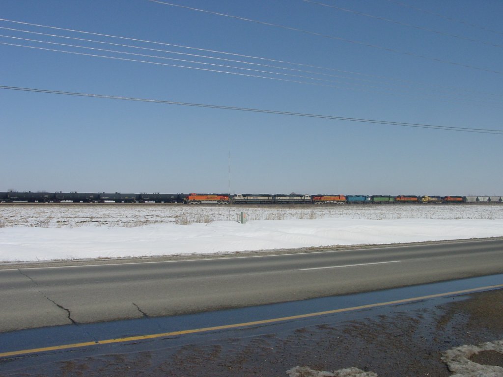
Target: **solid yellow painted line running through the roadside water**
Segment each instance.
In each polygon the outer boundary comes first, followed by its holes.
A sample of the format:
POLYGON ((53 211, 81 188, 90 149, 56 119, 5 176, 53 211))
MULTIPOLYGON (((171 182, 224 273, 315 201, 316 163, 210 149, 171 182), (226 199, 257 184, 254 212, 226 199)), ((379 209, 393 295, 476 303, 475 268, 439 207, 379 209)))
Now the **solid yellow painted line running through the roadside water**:
POLYGON ((123 342, 131 342, 131 341, 154 339, 154 338, 163 338, 163 337, 170 337, 170 336, 177 336, 177 335, 184 335, 184 334, 202 333, 202 332, 215 331, 215 330, 226 330, 226 329, 233 329, 233 328, 238 328, 238 327, 264 325, 264 324, 274 323, 274 322, 284 322, 284 321, 291 321, 291 320, 296 320, 296 319, 323 316, 323 315, 327 315, 327 314, 336 314, 336 313, 351 312, 351 311, 361 310, 361 309, 377 308, 377 307, 387 306, 387 305, 404 304, 404 303, 410 303, 410 302, 414 302, 414 301, 434 299, 437 297, 455 296, 455 295, 461 295, 461 294, 466 294, 466 293, 475 293, 478 291, 488 291, 488 290, 498 289, 498 288, 503 288, 503 284, 467 289, 467 290, 463 290, 463 291, 439 293, 436 295, 413 297, 413 298, 408 298, 408 299, 403 299, 403 300, 387 301, 384 303, 361 305, 361 306, 355 306, 352 308, 334 309, 334 310, 327 310, 324 312, 307 313, 307 314, 299 314, 296 316, 265 319, 265 320, 253 321, 253 322, 234 323, 234 324, 230 324, 230 325, 203 327, 200 329, 172 331, 172 332, 165 332, 165 333, 159 333, 159 334, 138 335, 138 336, 125 337, 125 338, 105 339, 105 340, 98 340, 98 341, 93 341, 93 342, 63 344, 63 345, 57 345, 57 346, 51 346, 51 347, 23 349, 23 350, 18 350, 18 351, 0 353, 0 357, 19 356, 19 355, 25 355, 28 353, 57 351, 57 350, 61 350, 61 349, 88 347, 88 346, 99 345, 99 344, 123 343, 123 342))

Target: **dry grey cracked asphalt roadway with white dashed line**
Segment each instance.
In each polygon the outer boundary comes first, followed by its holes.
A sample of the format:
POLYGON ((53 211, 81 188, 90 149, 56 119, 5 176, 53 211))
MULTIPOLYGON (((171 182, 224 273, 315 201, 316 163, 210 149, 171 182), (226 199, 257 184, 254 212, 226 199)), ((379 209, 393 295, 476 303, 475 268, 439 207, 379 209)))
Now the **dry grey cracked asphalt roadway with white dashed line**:
POLYGON ((0 332, 187 314, 503 273, 503 239, 0 270, 0 332))

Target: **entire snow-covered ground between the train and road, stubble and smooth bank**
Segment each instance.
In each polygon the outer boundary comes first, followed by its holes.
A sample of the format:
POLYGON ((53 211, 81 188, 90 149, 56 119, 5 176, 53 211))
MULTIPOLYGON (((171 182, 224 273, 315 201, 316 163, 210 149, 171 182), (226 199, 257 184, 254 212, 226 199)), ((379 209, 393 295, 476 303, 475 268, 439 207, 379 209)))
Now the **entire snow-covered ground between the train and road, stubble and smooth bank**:
POLYGON ((2 205, 0 261, 222 253, 503 236, 503 205, 2 205), (244 211, 248 223, 236 222, 244 211))

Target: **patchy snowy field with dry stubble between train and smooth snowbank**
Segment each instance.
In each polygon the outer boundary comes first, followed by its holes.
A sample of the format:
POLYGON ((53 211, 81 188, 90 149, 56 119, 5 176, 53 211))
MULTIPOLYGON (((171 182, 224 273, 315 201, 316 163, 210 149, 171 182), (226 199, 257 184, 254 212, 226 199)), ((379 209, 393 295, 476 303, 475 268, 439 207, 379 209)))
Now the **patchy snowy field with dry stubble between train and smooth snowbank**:
POLYGON ((236 221, 239 212, 248 221, 349 218, 385 219, 503 219, 503 204, 473 206, 366 205, 366 206, 183 206, 183 205, 13 205, 0 206, 0 228, 29 226, 78 228, 88 226, 141 227, 154 224, 210 224, 236 221))

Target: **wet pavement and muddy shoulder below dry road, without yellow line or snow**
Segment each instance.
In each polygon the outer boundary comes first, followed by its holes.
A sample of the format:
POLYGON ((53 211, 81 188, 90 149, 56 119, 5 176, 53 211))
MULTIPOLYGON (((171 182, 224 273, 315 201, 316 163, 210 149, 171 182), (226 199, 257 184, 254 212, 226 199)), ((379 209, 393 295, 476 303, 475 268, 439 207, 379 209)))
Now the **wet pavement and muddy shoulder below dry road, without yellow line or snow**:
MULTIPOLYGON (((143 318, 0 334, 0 352, 112 339, 166 329, 350 308, 503 283, 502 275, 375 293, 244 308, 192 316, 143 318)), ((269 324, 70 348, 0 358, 0 376, 286 376, 295 366, 334 371, 351 366, 379 376, 449 376, 442 353, 503 339, 503 290, 437 297, 406 304, 269 324)), ((503 366, 496 351, 471 360, 503 366)))

